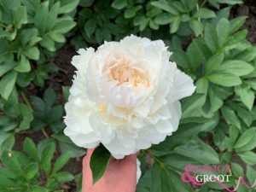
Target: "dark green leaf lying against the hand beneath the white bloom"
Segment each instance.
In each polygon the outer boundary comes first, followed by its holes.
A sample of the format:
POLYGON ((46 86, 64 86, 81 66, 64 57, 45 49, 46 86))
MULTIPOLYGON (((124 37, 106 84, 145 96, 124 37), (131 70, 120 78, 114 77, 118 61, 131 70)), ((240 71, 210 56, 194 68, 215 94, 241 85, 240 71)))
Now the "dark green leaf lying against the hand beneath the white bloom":
POLYGON ((90 157, 90 170, 92 174, 92 183, 96 183, 106 172, 108 163, 111 160, 111 154, 108 149, 102 145, 97 147, 90 157))

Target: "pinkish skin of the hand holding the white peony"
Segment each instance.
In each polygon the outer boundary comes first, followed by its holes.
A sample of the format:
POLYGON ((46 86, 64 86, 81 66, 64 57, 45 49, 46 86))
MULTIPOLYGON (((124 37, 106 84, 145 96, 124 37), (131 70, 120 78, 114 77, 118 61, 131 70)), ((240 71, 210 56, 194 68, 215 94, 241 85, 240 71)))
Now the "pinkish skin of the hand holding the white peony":
POLYGON ((92 185, 90 156, 94 149, 87 149, 83 160, 83 192, 135 192, 137 185, 137 154, 122 160, 111 160, 103 177, 92 185))

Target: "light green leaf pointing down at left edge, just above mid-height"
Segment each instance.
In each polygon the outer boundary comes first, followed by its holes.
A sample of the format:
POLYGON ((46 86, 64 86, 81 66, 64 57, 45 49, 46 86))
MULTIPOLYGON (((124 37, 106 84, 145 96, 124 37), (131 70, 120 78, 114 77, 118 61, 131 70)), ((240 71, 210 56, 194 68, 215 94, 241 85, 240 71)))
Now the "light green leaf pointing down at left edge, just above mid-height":
POLYGON ((0 81, 0 94, 4 99, 8 99, 11 92, 15 88, 15 82, 17 79, 17 73, 12 71, 6 73, 0 81))

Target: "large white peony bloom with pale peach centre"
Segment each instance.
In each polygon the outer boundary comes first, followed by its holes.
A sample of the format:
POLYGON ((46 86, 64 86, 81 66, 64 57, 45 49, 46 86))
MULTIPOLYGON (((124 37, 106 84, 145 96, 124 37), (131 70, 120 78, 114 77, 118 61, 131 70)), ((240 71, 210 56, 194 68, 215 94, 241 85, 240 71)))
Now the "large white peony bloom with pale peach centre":
POLYGON ((80 147, 102 143, 116 159, 165 140, 177 130, 178 100, 193 80, 169 61, 161 40, 131 35, 95 49, 79 49, 65 105, 65 134, 80 147))

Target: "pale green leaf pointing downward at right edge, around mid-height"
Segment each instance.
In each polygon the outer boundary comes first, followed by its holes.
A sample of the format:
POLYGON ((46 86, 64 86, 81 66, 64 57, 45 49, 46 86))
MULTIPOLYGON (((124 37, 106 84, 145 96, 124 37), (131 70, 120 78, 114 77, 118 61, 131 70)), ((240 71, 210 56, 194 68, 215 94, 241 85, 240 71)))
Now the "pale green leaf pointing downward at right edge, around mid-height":
POLYGON ((241 102, 251 111, 255 99, 253 90, 249 86, 236 86, 235 92, 237 96, 240 96, 241 102))

